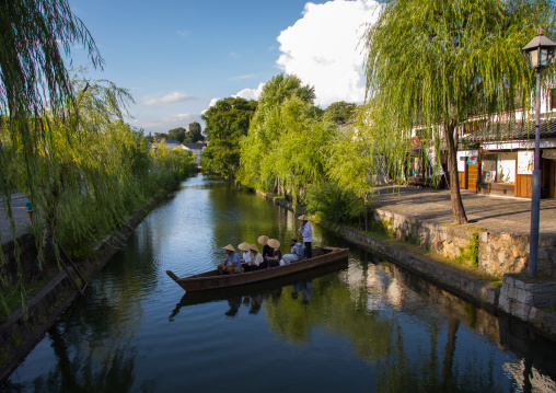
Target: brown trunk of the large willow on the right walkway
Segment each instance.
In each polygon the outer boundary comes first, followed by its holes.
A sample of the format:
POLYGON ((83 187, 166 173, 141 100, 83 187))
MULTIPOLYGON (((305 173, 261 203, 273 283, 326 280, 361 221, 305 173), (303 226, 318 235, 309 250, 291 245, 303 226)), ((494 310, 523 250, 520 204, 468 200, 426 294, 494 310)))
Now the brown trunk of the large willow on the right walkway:
POLYGON ((448 173, 450 176, 450 201, 452 204, 454 223, 461 224, 467 223, 467 216, 465 215, 462 196, 460 194, 460 181, 457 178, 457 137, 454 138, 454 120, 444 125, 444 138, 448 151, 448 173))

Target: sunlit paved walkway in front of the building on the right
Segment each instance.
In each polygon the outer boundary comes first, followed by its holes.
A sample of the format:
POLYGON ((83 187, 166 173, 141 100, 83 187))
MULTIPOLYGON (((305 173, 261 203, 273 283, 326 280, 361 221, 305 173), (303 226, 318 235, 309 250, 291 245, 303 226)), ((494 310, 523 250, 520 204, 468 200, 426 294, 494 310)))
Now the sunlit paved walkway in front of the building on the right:
MULTIPOLYGON (((450 190, 391 186, 378 188, 372 206, 383 210, 439 223, 452 223, 450 190)), ((462 190, 470 223, 493 232, 529 234, 531 199, 479 195, 462 190)), ((556 234, 556 199, 541 199, 541 234, 556 234)))

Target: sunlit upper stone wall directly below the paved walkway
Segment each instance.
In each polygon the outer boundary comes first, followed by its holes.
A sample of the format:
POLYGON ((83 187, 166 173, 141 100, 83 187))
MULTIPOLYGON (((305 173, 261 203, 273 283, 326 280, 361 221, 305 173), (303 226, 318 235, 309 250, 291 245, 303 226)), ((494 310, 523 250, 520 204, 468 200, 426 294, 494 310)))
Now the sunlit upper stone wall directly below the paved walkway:
MULTIPOLYGON (((461 258, 489 274, 528 270, 529 235, 449 227, 381 209, 373 211, 373 218, 398 240, 419 244, 450 259, 461 258), (475 257, 476 261, 470 259, 475 257)), ((538 274, 556 277, 556 238, 542 235, 538 247, 538 274)))

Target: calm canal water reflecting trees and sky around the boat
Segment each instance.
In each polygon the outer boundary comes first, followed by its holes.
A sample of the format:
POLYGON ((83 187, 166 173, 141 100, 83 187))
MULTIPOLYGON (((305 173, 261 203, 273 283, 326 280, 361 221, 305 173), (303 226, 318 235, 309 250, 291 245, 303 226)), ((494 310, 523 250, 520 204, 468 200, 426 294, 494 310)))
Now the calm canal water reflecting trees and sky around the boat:
POLYGON ((334 268, 184 294, 166 274, 215 268, 222 246, 282 242, 292 212, 189 178, 149 213, 5 392, 551 392, 556 346, 349 246, 334 268))

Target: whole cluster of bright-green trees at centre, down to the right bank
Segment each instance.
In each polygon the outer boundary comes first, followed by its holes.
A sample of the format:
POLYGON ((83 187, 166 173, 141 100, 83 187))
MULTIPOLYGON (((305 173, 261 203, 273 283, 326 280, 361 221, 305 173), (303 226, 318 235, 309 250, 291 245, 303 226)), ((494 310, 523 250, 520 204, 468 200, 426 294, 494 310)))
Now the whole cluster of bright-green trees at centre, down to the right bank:
POLYGON ((355 129, 339 131, 313 100, 313 88, 294 76, 265 84, 241 141, 240 178, 291 197, 317 218, 354 222, 369 200, 368 141, 355 129))

